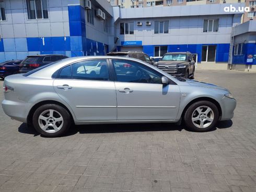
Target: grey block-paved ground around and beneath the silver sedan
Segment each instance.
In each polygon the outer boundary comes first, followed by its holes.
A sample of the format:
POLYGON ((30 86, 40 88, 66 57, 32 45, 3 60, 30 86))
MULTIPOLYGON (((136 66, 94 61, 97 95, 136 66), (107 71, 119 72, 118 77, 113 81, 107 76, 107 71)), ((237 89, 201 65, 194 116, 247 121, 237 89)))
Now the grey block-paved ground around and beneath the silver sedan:
POLYGON ((256 191, 256 74, 197 70, 195 79, 232 92, 232 121, 208 133, 119 124, 44 138, 0 107, 0 191, 256 191))

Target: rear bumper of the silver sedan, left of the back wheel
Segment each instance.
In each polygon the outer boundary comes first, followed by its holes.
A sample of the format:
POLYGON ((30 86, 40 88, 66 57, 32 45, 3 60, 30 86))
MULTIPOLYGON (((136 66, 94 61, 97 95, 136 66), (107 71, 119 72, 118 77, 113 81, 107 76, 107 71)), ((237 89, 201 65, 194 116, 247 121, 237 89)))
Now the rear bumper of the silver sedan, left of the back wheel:
POLYGON ((9 117, 27 123, 28 116, 28 104, 25 102, 9 101, 4 100, 2 102, 2 107, 6 115, 9 117))

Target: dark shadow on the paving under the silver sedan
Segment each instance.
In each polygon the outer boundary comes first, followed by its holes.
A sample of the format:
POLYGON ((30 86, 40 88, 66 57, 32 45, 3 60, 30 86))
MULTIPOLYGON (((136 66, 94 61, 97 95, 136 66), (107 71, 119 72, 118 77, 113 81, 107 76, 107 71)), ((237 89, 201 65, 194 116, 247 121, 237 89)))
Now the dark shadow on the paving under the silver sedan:
MULTIPOLYGON (((232 121, 222 121, 218 122, 216 127, 210 131, 218 129, 225 129, 232 126, 232 121)), ((79 134, 101 134, 101 133, 123 133, 123 132, 143 132, 143 131, 172 131, 182 129, 188 130, 183 124, 177 125, 174 123, 139 123, 139 124, 97 124, 97 125, 72 125, 72 127, 67 131, 65 135, 71 136, 77 133, 79 134)), ((40 134, 34 130, 33 127, 27 126, 27 124, 22 123, 18 131, 24 134, 31 134, 38 136, 40 134)), ((188 130, 190 131, 190 130, 188 130)))

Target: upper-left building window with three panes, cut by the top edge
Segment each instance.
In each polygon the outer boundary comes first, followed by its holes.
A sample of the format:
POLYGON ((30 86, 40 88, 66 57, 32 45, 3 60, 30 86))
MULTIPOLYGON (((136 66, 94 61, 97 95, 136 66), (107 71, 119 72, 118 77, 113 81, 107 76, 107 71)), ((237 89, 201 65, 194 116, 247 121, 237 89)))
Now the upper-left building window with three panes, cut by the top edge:
POLYGON ((27 0, 28 19, 48 19, 47 0, 27 0))

